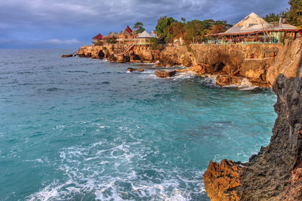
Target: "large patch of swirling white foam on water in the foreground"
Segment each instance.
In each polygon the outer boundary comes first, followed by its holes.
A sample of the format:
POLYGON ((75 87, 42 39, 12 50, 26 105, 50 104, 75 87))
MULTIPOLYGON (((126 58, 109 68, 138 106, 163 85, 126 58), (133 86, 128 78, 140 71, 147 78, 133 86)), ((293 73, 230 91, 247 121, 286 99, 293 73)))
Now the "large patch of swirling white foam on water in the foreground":
POLYGON ((53 180, 27 199, 78 199, 81 194, 93 194, 96 200, 190 200, 192 194, 204 193, 203 172, 146 160, 157 155, 161 155, 157 148, 120 140, 64 148, 58 170, 65 172, 66 179, 53 180))

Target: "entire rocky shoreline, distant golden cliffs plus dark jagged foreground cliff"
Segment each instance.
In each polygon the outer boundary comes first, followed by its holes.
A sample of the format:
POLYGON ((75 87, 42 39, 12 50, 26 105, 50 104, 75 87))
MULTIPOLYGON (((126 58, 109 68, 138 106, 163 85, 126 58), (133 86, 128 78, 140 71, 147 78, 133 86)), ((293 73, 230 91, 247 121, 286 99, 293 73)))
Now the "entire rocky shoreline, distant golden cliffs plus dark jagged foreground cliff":
MULTIPOLYGON (((254 85, 270 86, 277 94, 278 117, 271 142, 249 161, 210 161, 204 185, 211 200, 301 200, 302 199, 302 39, 280 44, 204 45, 151 50, 134 46, 80 48, 79 56, 117 62, 156 62, 157 67, 184 65, 200 74, 217 76, 218 85, 236 84, 246 77, 254 85), (89 50, 90 49, 90 50, 89 50), (253 53, 279 51, 276 58, 246 59, 253 53), (239 70, 240 69, 240 70, 239 70), (233 72, 238 72, 233 75, 233 72)), ((158 74, 175 72, 161 71, 158 74)))

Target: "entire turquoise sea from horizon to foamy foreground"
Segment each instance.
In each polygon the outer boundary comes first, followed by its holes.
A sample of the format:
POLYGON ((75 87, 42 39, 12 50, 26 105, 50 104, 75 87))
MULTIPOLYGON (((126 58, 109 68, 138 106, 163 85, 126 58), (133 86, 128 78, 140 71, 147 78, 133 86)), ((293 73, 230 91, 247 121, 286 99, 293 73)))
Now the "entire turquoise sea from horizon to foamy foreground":
POLYGON ((74 51, 0 49, 0 200, 209 200, 210 160, 269 143, 268 88, 74 51))

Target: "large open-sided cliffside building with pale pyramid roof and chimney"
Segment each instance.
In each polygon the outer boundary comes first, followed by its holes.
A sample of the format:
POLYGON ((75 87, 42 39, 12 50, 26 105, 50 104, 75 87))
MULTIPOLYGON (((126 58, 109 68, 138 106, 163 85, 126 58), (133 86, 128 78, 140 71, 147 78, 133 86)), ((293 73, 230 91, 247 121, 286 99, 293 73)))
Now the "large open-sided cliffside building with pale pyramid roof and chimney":
POLYGON ((297 27, 288 24, 287 18, 284 16, 280 16, 278 22, 267 23, 257 14, 251 13, 226 32, 205 36, 226 39, 224 41, 209 40, 208 43, 214 41, 219 43, 278 43, 283 42, 286 38, 294 40, 301 37, 301 32, 301 30, 297 30, 297 27))

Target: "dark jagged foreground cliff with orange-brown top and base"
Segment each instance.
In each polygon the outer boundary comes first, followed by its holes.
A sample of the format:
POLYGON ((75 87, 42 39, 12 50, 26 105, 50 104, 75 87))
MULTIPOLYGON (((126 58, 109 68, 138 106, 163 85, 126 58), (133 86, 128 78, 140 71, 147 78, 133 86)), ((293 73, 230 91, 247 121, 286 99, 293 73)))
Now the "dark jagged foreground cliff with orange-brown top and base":
POLYGON ((278 117, 268 146, 241 164, 210 161, 204 186, 211 200, 302 200, 302 39, 286 42, 268 69, 278 117))

